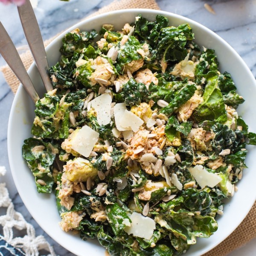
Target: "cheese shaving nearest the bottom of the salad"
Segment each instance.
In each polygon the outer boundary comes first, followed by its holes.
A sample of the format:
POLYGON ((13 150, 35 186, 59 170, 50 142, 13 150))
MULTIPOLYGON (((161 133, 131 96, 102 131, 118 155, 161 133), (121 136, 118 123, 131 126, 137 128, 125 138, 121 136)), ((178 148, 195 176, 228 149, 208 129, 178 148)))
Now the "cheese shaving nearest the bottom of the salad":
POLYGON ((151 236, 154 233, 156 228, 156 223, 153 219, 149 217, 144 217, 142 214, 138 212, 133 212, 130 216, 131 219, 131 226, 125 227, 125 232, 128 235, 133 234, 134 236, 151 239, 151 236))

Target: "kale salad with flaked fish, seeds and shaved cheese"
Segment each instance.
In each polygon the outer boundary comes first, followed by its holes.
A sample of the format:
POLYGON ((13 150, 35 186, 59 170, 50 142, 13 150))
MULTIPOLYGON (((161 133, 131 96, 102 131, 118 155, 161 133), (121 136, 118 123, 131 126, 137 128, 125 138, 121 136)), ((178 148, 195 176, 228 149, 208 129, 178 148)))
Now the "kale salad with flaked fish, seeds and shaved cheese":
POLYGON ((189 24, 139 15, 75 29, 60 52, 22 148, 60 227, 116 256, 179 255, 211 236, 256 145, 214 50, 189 24))

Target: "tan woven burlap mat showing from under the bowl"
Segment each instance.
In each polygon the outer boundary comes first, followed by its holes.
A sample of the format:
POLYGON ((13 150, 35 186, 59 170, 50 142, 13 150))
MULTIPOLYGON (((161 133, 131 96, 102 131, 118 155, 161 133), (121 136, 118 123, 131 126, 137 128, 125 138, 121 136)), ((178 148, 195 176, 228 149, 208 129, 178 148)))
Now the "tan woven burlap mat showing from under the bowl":
MULTIPOLYGON (((154 0, 114 0, 108 6, 99 9, 97 12, 94 12, 92 15, 87 16, 95 16, 101 13, 110 12, 113 10, 119 9, 129 9, 129 8, 148 8, 148 9, 157 9, 159 10, 159 6, 154 0)), ((57 36, 57 35, 56 35, 57 36)), ((56 37, 55 36, 55 37, 56 37)), ((45 41, 45 46, 47 46, 55 37, 50 38, 45 41)), ((25 53, 20 54, 20 57, 25 65, 26 69, 32 64, 33 58, 30 51, 26 51, 25 53)), ((12 91, 16 93, 17 88, 20 84, 15 74, 9 68, 9 66, 4 66, 0 68, 3 71, 3 75, 11 87, 12 91)), ((248 241, 256 237, 256 203, 254 203, 252 209, 239 225, 236 230, 221 244, 217 247, 204 254, 204 256, 225 256, 228 253, 232 252, 236 248, 239 248, 245 245, 248 241)))

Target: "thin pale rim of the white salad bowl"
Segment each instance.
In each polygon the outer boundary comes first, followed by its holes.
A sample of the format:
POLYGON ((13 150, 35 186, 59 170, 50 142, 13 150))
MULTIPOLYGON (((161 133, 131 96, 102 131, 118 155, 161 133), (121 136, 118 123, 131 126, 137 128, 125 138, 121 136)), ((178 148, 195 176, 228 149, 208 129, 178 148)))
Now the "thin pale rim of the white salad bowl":
MULTIPOLYGON (((232 53, 234 55, 236 55, 236 58, 239 58, 240 61, 241 61, 241 64, 243 64, 244 68, 246 69, 247 71, 247 74, 250 76, 251 79, 255 80, 253 74, 251 73, 251 70, 249 69, 249 67, 247 66, 247 64, 244 62, 244 60, 241 58, 241 56, 236 52, 235 49, 233 49, 233 47, 230 46, 230 44, 228 44, 223 38, 221 38, 219 35, 217 35, 215 32, 213 32, 211 29, 207 28, 207 26, 204 26, 202 25, 201 23, 198 23, 197 21, 195 20, 192 20, 190 18, 187 18, 187 17, 184 17, 182 15, 178 15, 178 14, 175 14, 175 13, 172 13, 172 12, 166 12, 166 11, 162 11, 162 10, 155 10, 155 9, 122 9, 122 10, 116 10, 116 11, 111 11, 111 12, 107 12, 107 13, 102 13, 102 14, 99 14, 99 15, 95 15, 95 16, 92 16, 92 17, 88 17, 88 18, 85 18, 84 20, 81 20, 80 22, 74 24, 73 26, 70 26, 69 28, 65 29, 63 32, 61 32, 60 34, 58 34, 58 36, 56 36, 46 47, 46 52, 54 45, 56 44, 56 42, 58 40, 60 40, 61 38, 63 38, 63 36, 67 33, 67 32, 70 32, 72 31, 73 29, 77 28, 77 27, 80 27, 80 26, 83 26, 84 23, 88 23, 88 22, 91 22, 93 20, 97 20, 99 18, 102 18, 102 17, 108 17, 109 15, 118 15, 118 14, 122 14, 122 13, 143 13, 143 12, 148 12, 148 13, 151 13, 151 14, 160 14, 160 15, 167 15, 169 18, 170 17, 175 17, 175 18, 178 18, 180 20, 183 20, 183 22, 186 22, 186 23, 189 23, 189 25, 195 25, 197 26, 199 29, 203 29, 204 31, 206 31, 207 33, 209 33, 209 35, 217 38, 218 41, 221 42, 221 44, 224 44, 227 48, 229 48, 232 53)), ((29 67, 28 69, 28 73, 30 74, 32 72, 32 70, 35 68, 35 62, 33 62, 31 64, 31 66, 29 67)), ((254 85, 256 85, 256 81, 254 83, 254 85)), ((44 229, 44 227, 41 225, 41 221, 40 219, 37 218, 37 216, 34 216, 31 212, 30 209, 30 206, 28 204, 28 202, 26 202, 25 198, 23 198, 23 193, 21 192, 20 193, 20 185, 19 185, 19 180, 17 180, 17 177, 15 176, 15 171, 14 171, 14 165, 13 165, 13 161, 15 161, 15 159, 13 159, 12 157, 12 152, 11 152, 11 149, 12 149, 12 145, 10 143, 10 137, 12 134, 10 134, 10 129, 9 127, 11 126, 12 124, 12 116, 14 114, 14 111, 15 111, 15 106, 16 106, 16 103, 18 101, 18 97, 21 93, 21 91, 24 90, 22 84, 20 84, 20 86, 18 87, 17 89, 17 93, 15 95, 15 98, 14 98, 14 101, 12 103, 12 108, 11 108, 11 111, 10 111, 10 115, 9 115, 9 122, 8 122, 8 132, 7 132, 7 147, 8 147, 8 156, 9 156, 9 164, 10 164, 10 169, 11 169, 11 172, 12 172, 12 177, 13 177, 13 180, 15 182, 15 186, 20 194, 20 198, 22 199, 23 201, 23 204, 26 206, 26 208, 28 209, 29 213, 32 215, 32 217, 35 219, 35 221, 37 222, 37 224, 49 235, 51 236, 47 230, 44 229)), ((239 221, 237 222, 238 224, 235 225, 232 229, 229 230, 229 232, 227 232, 227 236, 229 236, 231 233, 233 233, 233 231, 239 226, 239 224, 241 224, 241 222, 244 220, 244 218, 246 217, 246 215, 248 214, 248 212, 250 211, 251 207, 253 206, 254 204, 254 201, 256 200, 256 195, 255 195, 255 198, 253 201, 250 201, 250 204, 247 209, 247 211, 244 211, 244 214, 240 217, 239 221)), ((52 237, 52 236, 51 236, 52 237)), ((69 250, 70 252, 73 252, 73 253, 77 253, 76 251, 72 251, 70 250, 70 248, 67 248, 67 245, 66 244, 63 244, 61 243, 61 240, 60 239, 56 239, 52 237, 53 240, 55 240, 58 244, 60 244, 62 247, 66 248, 67 250, 69 250)), ((82 241, 82 240, 81 240, 82 241)), ((211 244, 211 246, 208 246, 207 249, 203 250, 201 255, 203 255, 204 253, 207 253, 209 250, 212 250, 214 247, 216 247, 218 244, 220 244, 223 240, 221 241, 217 241, 213 244, 211 244)), ((80 254, 78 254, 80 255, 80 254)))

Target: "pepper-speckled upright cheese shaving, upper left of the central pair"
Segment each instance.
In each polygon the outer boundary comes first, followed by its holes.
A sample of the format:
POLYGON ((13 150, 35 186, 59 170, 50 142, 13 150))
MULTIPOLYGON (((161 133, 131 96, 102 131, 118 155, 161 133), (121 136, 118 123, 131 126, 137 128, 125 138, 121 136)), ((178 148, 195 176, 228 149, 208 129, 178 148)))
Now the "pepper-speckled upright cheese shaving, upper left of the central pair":
POLYGON ((97 113, 99 125, 108 125, 111 121, 112 98, 108 93, 104 93, 91 101, 91 107, 97 113))

